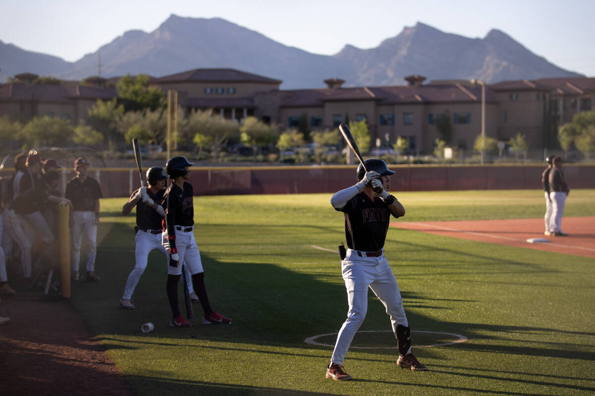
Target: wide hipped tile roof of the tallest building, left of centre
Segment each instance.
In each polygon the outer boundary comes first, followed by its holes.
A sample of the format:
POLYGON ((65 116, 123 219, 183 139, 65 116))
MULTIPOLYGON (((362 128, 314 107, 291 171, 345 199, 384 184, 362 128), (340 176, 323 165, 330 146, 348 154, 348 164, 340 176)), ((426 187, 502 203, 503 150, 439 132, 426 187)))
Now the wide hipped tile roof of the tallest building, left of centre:
POLYGON ((160 83, 181 83, 188 81, 201 82, 220 82, 220 83, 265 83, 281 84, 283 81, 273 78, 263 77, 252 73, 239 71, 236 69, 194 69, 177 74, 166 75, 164 77, 153 78, 149 80, 150 84, 160 83))

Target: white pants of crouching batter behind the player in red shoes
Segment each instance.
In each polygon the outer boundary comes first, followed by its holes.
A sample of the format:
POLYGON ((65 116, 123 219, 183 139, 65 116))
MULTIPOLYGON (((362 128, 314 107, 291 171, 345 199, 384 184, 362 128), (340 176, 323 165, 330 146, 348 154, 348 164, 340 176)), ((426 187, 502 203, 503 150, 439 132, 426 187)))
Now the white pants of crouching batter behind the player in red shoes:
MULTIPOLYGON (((126 287, 124 287, 124 295, 122 296, 123 299, 130 299, 132 297, 132 293, 134 293, 134 289, 139 283, 140 276, 145 272, 151 251, 156 250, 167 258, 165 248, 161 244, 161 233, 152 234, 151 232, 138 230, 136 236, 134 236, 134 242, 136 242, 136 248, 134 248, 136 264, 130 275, 128 275, 126 287)), ((184 270, 186 270, 186 277, 190 277, 190 271, 188 271, 186 265, 184 265, 184 270)), ((188 282, 188 292, 194 293, 192 282, 188 282)))

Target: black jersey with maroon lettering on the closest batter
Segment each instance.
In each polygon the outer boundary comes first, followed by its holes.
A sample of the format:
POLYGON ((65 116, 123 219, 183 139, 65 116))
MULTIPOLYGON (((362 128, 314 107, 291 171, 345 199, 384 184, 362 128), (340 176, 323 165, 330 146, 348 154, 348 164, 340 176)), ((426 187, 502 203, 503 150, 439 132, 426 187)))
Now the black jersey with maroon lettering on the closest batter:
POLYGON ((345 213, 347 247, 362 252, 376 252, 383 248, 389 230, 390 210, 380 198, 371 201, 359 193, 349 199, 342 209, 345 213))

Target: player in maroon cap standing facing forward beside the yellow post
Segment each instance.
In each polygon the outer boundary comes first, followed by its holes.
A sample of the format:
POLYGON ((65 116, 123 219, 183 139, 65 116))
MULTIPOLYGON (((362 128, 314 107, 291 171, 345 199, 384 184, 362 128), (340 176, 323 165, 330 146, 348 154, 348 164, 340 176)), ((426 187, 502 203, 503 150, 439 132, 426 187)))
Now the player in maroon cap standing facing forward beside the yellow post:
POLYGON ((83 234, 87 243, 87 280, 99 281, 95 275, 95 256, 97 254, 97 224, 99 224, 99 198, 103 198, 101 186, 89 176, 89 161, 79 158, 74 161, 77 175, 66 185, 66 198, 73 203, 72 251, 70 264, 73 280, 79 280, 80 246, 83 234))

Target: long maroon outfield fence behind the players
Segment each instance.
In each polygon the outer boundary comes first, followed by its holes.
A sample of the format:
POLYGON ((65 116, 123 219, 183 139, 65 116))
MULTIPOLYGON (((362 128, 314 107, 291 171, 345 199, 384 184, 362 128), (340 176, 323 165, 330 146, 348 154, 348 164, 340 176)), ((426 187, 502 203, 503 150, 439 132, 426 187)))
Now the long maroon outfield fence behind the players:
MULTIPOLYGON (((195 195, 331 193, 356 181, 355 166, 192 167, 195 195)), ((392 191, 447 191, 466 189, 541 189, 542 165, 391 165, 392 191)), ((565 164, 571 189, 595 188, 595 165, 565 164)), ((10 176, 11 170, 2 171, 10 176)), ((140 186, 137 169, 95 168, 105 198, 126 197, 140 186)), ((61 188, 75 176, 63 170, 61 188)), ((8 180, 7 177, 4 178, 8 180)), ((6 191, 6 190, 4 190, 6 191)))

